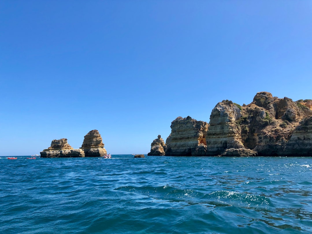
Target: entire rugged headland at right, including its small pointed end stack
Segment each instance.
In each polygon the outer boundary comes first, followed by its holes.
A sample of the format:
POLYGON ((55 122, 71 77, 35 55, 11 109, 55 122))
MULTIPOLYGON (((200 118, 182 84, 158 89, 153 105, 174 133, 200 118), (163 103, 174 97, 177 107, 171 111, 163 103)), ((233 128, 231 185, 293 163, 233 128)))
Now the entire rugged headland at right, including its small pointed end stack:
POLYGON ((209 124, 190 116, 171 123, 166 144, 158 135, 148 155, 312 156, 312 100, 259 92, 248 105, 223 100, 209 124))

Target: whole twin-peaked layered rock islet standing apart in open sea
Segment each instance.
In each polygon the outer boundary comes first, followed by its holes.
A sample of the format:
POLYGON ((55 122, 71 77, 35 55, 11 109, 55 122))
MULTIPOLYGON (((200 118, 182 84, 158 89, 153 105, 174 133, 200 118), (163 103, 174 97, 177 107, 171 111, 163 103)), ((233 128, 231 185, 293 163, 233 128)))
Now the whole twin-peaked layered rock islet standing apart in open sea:
POLYGON ((98 130, 92 130, 85 135, 80 149, 73 149, 66 138, 52 140, 51 146, 40 152, 41 158, 74 158, 74 157, 102 157, 106 149, 98 130))

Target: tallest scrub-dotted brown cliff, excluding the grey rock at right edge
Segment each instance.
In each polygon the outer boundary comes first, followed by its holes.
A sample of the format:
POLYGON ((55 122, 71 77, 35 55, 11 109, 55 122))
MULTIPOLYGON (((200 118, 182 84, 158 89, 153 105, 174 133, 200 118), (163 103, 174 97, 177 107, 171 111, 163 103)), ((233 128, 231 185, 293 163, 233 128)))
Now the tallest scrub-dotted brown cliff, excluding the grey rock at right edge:
POLYGON ((306 105, 268 92, 257 93, 242 107, 223 101, 210 116, 207 156, 290 155, 287 142, 307 115, 312 112, 306 105))

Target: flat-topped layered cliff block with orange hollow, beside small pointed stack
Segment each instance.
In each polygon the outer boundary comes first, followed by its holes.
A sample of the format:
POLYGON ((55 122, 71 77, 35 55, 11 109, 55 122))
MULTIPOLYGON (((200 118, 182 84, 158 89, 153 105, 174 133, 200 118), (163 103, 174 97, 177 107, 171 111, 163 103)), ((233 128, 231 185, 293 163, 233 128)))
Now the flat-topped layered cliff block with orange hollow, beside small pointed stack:
POLYGON ((171 134, 166 140, 165 154, 169 156, 203 156, 206 153, 207 122, 190 116, 171 122, 171 134))

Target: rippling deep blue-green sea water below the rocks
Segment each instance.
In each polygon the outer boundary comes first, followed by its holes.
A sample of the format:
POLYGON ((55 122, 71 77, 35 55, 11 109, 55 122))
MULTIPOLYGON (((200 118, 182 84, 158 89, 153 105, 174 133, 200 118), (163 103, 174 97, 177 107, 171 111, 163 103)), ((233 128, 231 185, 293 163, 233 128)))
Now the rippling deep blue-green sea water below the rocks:
POLYGON ((312 233, 312 158, 0 157, 1 233, 312 233))

